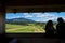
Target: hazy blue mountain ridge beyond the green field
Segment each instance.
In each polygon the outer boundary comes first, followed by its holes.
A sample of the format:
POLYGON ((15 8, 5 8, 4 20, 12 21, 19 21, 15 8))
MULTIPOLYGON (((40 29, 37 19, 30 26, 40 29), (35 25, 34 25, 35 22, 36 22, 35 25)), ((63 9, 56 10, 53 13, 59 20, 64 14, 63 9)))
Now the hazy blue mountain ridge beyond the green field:
POLYGON ((5 20, 6 23, 36 23, 35 20, 31 20, 31 19, 27 19, 27 18, 13 18, 13 19, 6 19, 5 20))

